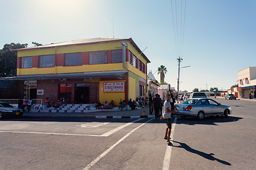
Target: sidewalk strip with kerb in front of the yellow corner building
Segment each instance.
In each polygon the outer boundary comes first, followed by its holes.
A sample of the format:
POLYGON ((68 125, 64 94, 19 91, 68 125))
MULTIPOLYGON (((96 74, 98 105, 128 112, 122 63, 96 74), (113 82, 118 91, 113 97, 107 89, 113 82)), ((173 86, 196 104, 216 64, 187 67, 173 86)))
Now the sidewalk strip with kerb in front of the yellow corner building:
POLYGON ((145 113, 144 108, 130 111, 113 111, 113 110, 95 110, 95 112, 88 113, 23 113, 24 118, 154 118, 154 115, 149 115, 149 106, 146 105, 145 113))

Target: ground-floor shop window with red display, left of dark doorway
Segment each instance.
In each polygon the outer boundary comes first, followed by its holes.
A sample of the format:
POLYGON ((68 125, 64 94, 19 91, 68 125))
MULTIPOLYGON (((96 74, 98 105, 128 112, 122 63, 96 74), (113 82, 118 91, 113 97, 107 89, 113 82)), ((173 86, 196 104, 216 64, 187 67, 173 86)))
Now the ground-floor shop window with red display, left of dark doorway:
POLYGON ((58 98, 60 101, 71 101, 72 84, 59 84, 58 98))

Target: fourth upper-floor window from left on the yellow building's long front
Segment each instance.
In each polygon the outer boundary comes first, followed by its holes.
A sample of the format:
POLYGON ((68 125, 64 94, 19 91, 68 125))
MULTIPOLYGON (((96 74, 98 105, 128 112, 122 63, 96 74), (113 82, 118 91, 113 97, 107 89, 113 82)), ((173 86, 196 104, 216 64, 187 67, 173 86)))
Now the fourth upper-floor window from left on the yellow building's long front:
POLYGON ((100 52, 90 52, 90 64, 107 63, 107 50, 100 52))

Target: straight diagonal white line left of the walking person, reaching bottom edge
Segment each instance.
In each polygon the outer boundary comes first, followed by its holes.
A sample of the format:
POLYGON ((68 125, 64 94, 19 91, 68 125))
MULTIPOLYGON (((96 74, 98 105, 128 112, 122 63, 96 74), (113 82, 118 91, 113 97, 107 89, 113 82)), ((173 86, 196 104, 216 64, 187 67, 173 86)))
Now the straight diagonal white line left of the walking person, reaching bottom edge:
MULTIPOLYGON (((151 118, 150 120, 146 121, 146 123, 149 123, 151 120, 153 120, 154 118, 151 118)), ((100 159, 102 159, 102 157, 105 157, 105 155, 110 152, 112 149, 114 149, 114 147, 116 147, 117 145, 119 145, 119 143, 121 143, 123 140, 125 140, 127 137, 129 137, 129 135, 131 135, 135 130, 141 128, 143 125, 145 125, 146 123, 142 123, 142 125, 139 125, 137 128, 131 130, 129 133, 127 133, 127 135, 124 135, 124 137, 122 137, 119 141, 117 141, 114 145, 112 145, 109 149, 107 149, 105 152, 103 152, 102 154, 100 154, 99 157, 97 157, 96 159, 94 159, 90 164, 88 164, 84 169, 82 170, 87 170, 90 169, 93 165, 95 165, 98 161, 100 161, 100 159)))

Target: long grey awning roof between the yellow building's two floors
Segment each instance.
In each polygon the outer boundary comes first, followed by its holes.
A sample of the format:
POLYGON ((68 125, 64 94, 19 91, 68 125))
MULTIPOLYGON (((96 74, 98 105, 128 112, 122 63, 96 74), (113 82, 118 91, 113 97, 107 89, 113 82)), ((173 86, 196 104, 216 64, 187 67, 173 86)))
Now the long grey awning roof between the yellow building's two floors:
POLYGON ((77 79, 77 78, 107 78, 107 77, 119 77, 122 74, 127 73, 127 70, 111 71, 111 72, 83 72, 72 74, 39 74, 39 75, 26 75, 17 77, 8 77, 3 79, 12 80, 36 80, 36 79, 77 79))

